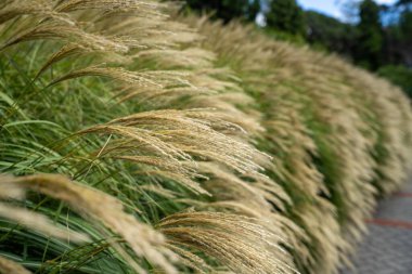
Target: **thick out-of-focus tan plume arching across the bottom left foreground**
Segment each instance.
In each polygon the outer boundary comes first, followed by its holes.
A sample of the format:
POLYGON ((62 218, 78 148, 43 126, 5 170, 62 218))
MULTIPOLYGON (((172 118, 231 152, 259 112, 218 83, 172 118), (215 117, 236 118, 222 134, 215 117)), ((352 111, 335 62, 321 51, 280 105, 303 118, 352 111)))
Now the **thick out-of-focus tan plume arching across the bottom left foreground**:
MULTIPOLYGON (((138 257, 144 257, 167 273, 177 273, 170 260, 176 257, 165 246, 164 236, 146 224, 139 222, 133 216, 124 211, 121 203, 102 192, 87 187, 56 174, 38 174, 22 178, 4 178, 4 182, 39 192, 55 199, 67 203, 74 210, 86 218, 102 222, 114 233, 120 235, 138 257)), ((108 235, 107 235, 108 236, 108 235)), ((120 255, 127 255, 119 246, 114 246, 120 255)), ((129 260, 138 273, 144 271, 129 260)))

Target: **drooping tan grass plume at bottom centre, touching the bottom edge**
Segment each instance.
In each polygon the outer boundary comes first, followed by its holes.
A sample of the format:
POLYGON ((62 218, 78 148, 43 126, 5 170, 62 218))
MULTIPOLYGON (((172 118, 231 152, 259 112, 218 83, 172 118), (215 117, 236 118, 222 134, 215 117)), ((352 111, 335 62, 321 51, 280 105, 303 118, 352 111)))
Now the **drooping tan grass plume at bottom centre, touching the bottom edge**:
POLYGON ((158 227, 173 243, 204 251, 236 273, 293 273, 267 249, 276 237, 249 218, 186 212, 165 218, 158 227))

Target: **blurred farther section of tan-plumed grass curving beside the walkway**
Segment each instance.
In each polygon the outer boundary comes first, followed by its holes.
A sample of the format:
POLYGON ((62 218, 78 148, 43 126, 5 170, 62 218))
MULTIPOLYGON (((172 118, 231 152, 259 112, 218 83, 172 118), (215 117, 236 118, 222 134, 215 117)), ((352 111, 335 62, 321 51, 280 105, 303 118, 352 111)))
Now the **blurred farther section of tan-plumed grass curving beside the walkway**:
POLYGON ((216 66, 235 73, 260 114, 266 131, 253 143, 272 156, 265 173, 291 200, 274 208, 301 229, 286 248, 295 266, 336 273, 350 264, 376 198, 407 179, 407 96, 336 56, 268 39, 252 27, 182 21, 207 37, 199 47, 218 54, 216 66))

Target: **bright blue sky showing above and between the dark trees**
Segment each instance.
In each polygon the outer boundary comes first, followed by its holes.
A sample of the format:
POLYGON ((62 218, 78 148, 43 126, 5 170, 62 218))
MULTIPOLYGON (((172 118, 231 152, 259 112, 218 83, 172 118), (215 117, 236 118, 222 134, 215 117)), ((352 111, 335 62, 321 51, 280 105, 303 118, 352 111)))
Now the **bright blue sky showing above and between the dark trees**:
MULTIPOLYGON (((396 0, 375 0, 379 4, 391 4, 396 0)), ((344 19, 344 15, 338 5, 338 0, 298 0, 305 10, 316 10, 336 18, 344 19)), ((340 1, 342 2, 342 1, 340 1)))

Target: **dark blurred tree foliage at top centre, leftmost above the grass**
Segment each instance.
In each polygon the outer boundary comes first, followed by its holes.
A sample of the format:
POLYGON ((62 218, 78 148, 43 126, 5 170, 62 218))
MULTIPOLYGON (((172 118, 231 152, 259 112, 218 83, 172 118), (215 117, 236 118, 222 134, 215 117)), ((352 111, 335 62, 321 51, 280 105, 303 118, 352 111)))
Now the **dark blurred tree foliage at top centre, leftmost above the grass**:
POLYGON ((259 0, 186 0, 190 9, 213 13, 214 17, 223 19, 224 23, 232 18, 243 18, 255 22, 260 11, 259 0))

